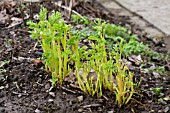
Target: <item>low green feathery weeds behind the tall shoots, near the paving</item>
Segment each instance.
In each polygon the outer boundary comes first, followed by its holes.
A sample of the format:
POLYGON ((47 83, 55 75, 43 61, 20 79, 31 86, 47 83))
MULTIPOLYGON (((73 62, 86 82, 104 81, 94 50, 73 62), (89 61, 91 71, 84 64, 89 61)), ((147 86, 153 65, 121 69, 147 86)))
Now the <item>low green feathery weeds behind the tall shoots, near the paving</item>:
MULTIPOLYGON (((80 19, 80 18, 79 18, 80 19)), ((77 21, 80 21, 80 20, 77 21)), ((100 20, 100 19, 99 19, 100 20)), ((75 21, 75 20, 74 20, 75 21)), ((100 20, 101 21, 101 20, 100 20)), ((101 23, 101 22, 100 22, 101 23)), ((143 44, 142 42, 138 42, 138 38, 136 35, 131 34, 127 28, 117 26, 114 24, 107 24, 102 22, 100 27, 97 27, 96 21, 90 24, 89 27, 84 27, 83 29, 74 32, 74 34, 81 35, 82 38, 87 38, 91 35, 98 36, 99 32, 103 32, 103 37, 105 37, 106 41, 106 49, 108 51, 112 51, 115 44, 123 40, 124 44, 124 54, 125 56, 129 56, 131 54, 142 54, 142 55, 151 55, 153 58, 160 58, 160 55, 154 51, 152 51, 147 44, 143 44), (98 31, 98 30, 99 31, 98 31)))

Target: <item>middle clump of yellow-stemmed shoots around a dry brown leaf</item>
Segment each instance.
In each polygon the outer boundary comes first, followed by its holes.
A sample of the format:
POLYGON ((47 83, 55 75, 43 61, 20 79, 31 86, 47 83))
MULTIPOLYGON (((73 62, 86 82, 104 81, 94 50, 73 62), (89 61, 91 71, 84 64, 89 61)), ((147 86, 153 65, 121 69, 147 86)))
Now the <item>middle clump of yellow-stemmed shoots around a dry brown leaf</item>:
POLYGON ((76 78, 82 91, 91 96, 97 94, 97 97, 101 97, 103 80, 102 65, 106 59, 106 56, 103 54, 105 51, 103 48, 104 42, 95 36, 90 36, 89 40, 96 41, 97 43, 92 43, 91 49, 88 50, 86 46, 78 48, 78 42, 74 41, 76 78), (81 62, 82 60, 86 61, 81 62), (94 72, 91 72, 92 70, 94 72))

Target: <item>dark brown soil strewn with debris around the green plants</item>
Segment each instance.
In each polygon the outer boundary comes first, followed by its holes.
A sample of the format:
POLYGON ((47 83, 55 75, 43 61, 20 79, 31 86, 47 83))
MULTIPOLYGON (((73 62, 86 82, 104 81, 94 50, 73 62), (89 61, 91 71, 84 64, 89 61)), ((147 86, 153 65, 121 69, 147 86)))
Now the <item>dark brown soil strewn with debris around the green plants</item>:
MULTIPOLYGON (((41 3, 49 10, 57 9, 48 7, 49 3, 41 3)), ((11 5, 11 4, 8 4, 11 5)), ((8 6, 7 5, 7 6, 8 6)), ((0 68, 5 72, 0 73, 0 113, 168 113, 170 112, 170 76, 155 76, 140 71, 139 66, 131 69, 135 73, 137 81, 143 77, 139 87, 139 94, 135 94, 131 102, 118 108, 115 104, 114 95, 105 91, 100 99, 90 97, 69 81, 65 81, 62 87, 53 88, 51 86, 50 73, 43 70, 43 64, 37 58, 42 55, 42 49, 36 40, 30 38, 28 28, 25 25, 26 19, 11 25, 11 17, 22 18, 21 13, 17 13, 19 5, 12 4, 13 7, 2 6, 1 11, 6 10, 9 19, 3 24, 0 23, 0 68), (156 96, 152 89, 163 87, 161 94, 156 96)), ((34 6, 35 7, 35 6, 34 6)), ((25 10, 25 9, 24 9, 25 10)), ((128 27, 137 34, 140 41, 147 43, 150 47, 162 55, 166 54, 163 41, 159 43, 147 37, 133 23, 129 22, 128 16, 119 16, 109 13, 97 3, 79 3, 73 10, 89 18, 102 18, 110 20, 110 23, 128 27), (142 34, 141 34, 142 33, 142 34)), ((33 15, 38 10, 33 8, 33 15)), ((63 12, 64 14, 64 12, 63 12)), ((66 19, 66 17, 65 17, 66 19)), ((68 22, 69 20, 66 19, 68 22)), ((144 56, 147 57, 147 56, 144 56)), ((151 66, 165 66, 167 72, 170 71, 169 56, 164 60, 153 60, 146 64, 146 68, 151 66)), ((72 78, 73 79, 73 78, 72 78)))

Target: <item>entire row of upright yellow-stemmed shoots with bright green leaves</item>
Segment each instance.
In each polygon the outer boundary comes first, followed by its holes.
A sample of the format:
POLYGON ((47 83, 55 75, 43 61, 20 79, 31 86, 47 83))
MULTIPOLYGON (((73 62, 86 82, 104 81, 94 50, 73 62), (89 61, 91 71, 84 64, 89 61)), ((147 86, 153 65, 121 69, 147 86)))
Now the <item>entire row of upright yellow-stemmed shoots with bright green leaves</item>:
POLYGON ((119 107, 127 104, 134 93, 133 73, 122 61, 124 40, 107 52, 105 34, 107 24, 97 19, 92 29, 97 32, 87 37, 90 46, 80 47, 81 36, 71 31, 59 12, 41 9, 39 22, 28 22, 32 38, 39 41, 44 51, 46 70, 52 73, 53 84, 62 85, 70 72, 75 72, 80 89, 91 96, 102 96, 104 89, 114 92, 119 107), (69 66, 74 64, 74 67, 69 66))

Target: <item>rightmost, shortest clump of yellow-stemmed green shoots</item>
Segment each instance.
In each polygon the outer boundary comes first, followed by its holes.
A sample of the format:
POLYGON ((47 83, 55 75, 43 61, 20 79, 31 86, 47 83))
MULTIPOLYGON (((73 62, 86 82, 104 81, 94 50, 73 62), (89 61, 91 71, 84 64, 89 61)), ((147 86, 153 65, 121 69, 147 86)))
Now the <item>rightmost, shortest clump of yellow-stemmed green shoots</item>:
POLYGON ((106 89, 114 92, 119 107, 127 104, 134 91, 133 73, 128 70, 122 61, 124 50, 123 40, 116 44, 114 50, 109 53, 109 60, 104 68, 104 83, 106 89))

